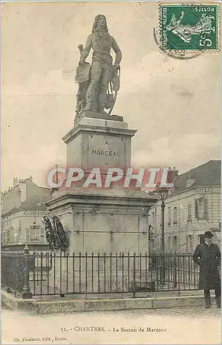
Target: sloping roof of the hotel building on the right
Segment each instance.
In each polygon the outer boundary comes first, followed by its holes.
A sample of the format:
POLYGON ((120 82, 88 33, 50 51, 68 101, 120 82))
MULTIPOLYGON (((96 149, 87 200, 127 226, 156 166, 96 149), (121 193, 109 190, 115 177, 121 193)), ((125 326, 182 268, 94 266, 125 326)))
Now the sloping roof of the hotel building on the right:
POLYGON ((207 161, 182 175, 174 181, 175 192, 201 186, 221 186, 221 161, 207 161), (192 184, 187 186, 187 180, 192 179, 192 184))

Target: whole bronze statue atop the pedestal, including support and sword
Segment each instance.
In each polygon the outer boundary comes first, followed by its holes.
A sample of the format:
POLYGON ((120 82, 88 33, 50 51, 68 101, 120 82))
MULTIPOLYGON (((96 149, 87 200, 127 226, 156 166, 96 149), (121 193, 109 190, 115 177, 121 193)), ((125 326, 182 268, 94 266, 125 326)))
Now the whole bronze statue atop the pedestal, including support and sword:
POLYGON ((92 33, 86 40, 86 46, 78 46, 80 61, 77 67, 75 81, 79 83, 77 93, 76 113, 79 116, 83 111, 109 114, 115 104, 117 92, 120 89, 120 61, 122 52, 115 39, 111 37, 104 15, 95 17, 92 33), (91 65, 85 61, 93 49, 91 65), (115 62, 111 57, 111 48, 115 52, 115 62), (115 92, 115 93, 114 93, 115 92))

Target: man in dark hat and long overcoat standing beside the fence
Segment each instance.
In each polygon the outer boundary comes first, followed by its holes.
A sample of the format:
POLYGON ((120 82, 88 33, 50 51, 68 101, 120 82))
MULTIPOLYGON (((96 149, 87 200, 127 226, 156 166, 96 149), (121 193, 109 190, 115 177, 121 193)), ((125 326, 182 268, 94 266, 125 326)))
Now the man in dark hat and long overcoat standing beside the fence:
POLYGON ((204 290, 205 308, 210 308, 210 290, 215 290, 216 306, 221 308, 221 251, 217 244, 212 243, 214 236, 205 231, 205 243, 198 244, 194 250, 193 260, 200 265, 199 289, 204 290))

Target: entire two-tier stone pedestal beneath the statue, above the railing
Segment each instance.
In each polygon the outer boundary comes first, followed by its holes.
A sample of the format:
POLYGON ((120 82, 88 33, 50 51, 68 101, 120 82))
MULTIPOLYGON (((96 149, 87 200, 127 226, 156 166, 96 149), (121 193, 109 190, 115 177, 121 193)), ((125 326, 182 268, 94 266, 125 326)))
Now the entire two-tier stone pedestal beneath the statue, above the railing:
MULTIPOLYGON (((86 112, 63 138, 67 167, 85 171, 130 167, 131 138, 135 133, 122 117, 95 117, 86 112)), ((148 213, 155 201, 141 190, 75 185, 69 190, 56 190, 47 206, 52 214, 59 215, 69 236, 71 253, 146 253, 148 213)))

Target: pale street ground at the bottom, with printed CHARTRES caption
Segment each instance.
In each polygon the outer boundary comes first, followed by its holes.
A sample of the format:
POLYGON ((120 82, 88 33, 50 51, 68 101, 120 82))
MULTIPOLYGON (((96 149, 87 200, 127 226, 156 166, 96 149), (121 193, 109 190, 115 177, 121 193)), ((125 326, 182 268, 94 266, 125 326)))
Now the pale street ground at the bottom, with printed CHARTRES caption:
POLYGON ((221 343, 215 306, 41 316, 3 308, 1 326, 2 344, 221 343))

